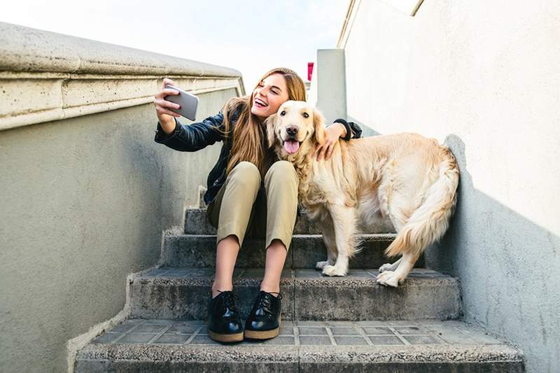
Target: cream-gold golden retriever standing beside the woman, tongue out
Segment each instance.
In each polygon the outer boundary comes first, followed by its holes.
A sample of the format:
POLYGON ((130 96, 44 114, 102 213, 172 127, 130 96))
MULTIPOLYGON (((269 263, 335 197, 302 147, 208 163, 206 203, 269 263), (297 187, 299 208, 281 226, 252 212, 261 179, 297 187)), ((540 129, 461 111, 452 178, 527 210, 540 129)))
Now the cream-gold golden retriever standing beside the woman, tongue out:
POLYGON ((345 276, 358 252, 358 227, 367 232, 388 218, 397 235, 385 253, 400 259, 379 268, 377 283, 397 287, 449 226, 456 160, 435 139, 389 134, 339 140, 329 160, 317 161, 312 155, 325 139, 323 122, 306 102, 286 101, 265 123, 269 146, 297 171, 300 204, 321 223, 327 260, 316 267, 327 276, 345 276))

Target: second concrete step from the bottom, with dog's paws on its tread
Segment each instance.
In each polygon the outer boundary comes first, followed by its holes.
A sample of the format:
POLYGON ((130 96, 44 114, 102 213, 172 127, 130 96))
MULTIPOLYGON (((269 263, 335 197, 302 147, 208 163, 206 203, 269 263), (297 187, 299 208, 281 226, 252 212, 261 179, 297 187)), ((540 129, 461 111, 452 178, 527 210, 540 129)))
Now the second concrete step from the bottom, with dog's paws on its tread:
MULTIPOLYGON (((264 269, 237 269, 234 289, 242 316, 251 310, 264 269)), ((280 282, 285 320, 453 319, 461 315, 459 281, 414 269, 398 288, 375 283, 376 269, 327 277, 314 269, 286 269, 280 282)), ((129 284, 132 316, 204 320, 214 269, 153 269, 129 284)))

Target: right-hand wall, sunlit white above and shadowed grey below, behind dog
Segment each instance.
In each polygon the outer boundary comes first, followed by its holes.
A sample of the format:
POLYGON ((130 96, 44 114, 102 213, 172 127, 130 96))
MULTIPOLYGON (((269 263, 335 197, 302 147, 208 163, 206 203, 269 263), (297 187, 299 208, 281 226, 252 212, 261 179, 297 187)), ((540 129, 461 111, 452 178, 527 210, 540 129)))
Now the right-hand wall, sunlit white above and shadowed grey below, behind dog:
POLYGON ((428 265, 459 276, 465 319, 560 371, 560 3, 356 1, 339 48, 347 112, 447 139, 461 167, 428 265))

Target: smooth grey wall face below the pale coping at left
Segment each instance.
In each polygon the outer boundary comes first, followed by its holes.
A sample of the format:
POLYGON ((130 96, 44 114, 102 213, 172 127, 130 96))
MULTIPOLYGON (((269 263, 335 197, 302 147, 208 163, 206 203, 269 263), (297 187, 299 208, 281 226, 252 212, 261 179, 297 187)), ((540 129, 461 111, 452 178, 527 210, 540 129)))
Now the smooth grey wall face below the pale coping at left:
MULTIPOLYGON (((233 96, 200 94, 201 117, 233 96)), ((156 122, 149 104, 0 131, 1 372, 64 372, 66 342, 122 311, 127 274, 184 225, 220 145, 176 152, 156 122)))

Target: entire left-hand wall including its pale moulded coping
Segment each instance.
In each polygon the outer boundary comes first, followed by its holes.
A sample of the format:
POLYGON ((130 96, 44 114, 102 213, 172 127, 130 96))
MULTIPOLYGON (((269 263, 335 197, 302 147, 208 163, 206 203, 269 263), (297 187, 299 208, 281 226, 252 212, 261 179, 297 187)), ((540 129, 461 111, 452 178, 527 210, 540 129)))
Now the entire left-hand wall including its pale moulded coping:
POLYGON ((155 265, 218 157, 153 141, 162 77, 201 119, 244 92, 232 69, 10 24, 0 45, 0 372, 64 372, 69 339, 125 316, 127 275, 155 265))

